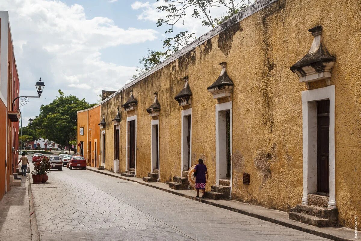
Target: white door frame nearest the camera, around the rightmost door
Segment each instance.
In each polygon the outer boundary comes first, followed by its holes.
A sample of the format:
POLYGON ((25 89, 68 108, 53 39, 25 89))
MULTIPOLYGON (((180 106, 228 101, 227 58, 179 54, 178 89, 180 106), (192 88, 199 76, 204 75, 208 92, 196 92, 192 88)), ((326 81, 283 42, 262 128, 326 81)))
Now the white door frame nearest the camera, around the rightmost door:
POLYGON ((302 91, 303 124, 303 197, 317 192, 317 105, 318 100, 330 100, 330 198, 329 208, 336 208, 335 193, 335 86, 302 91))

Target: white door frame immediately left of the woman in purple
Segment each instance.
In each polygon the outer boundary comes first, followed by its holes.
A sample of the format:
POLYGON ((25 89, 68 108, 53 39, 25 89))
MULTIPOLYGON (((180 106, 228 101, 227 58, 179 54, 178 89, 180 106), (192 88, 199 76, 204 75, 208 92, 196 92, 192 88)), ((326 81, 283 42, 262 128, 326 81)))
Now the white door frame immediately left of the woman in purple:
POLYGON ((190 138, 190 154, 189 154, 189 166, 191 167, 192 165, 192 108, 189 109, 184 109, 182 110, 182 136, 181 136, 181 176, 182 176, 182 171, 188 171, 184 170, 184 167, 186 166, 185 164, 183 164, 184 162, 186 162, 187 158, 188 158, 188 146, 187 146, 187 134, 188 134, 188 123, 186 123, 186 121, 184 121, 186 119, 187 116, 191 116, 191 138, 190 138), (187 125, 186 125, 187 124, 187 125))

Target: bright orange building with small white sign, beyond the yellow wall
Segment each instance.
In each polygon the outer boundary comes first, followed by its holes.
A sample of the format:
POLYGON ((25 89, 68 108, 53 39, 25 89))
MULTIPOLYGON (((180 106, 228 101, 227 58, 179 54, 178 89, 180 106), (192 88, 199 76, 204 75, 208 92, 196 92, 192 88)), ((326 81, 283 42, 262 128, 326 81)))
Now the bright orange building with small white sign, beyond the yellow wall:
POLYGON ((87 159, 88 166, 99 167, 100 104, 78 111, 77 115, 77 154, 87 159))

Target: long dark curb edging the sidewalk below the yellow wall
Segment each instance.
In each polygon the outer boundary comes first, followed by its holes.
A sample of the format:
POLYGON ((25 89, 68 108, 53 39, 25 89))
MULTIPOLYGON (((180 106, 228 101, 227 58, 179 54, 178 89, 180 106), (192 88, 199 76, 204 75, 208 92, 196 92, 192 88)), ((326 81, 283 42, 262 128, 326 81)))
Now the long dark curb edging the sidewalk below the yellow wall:
POLYGON ((149 186, 151 188, 166 191, 168 193, 172 193, 172 194, 175 194, 175 195, 178 195, 178 196, 181 196, 181 197, 189 198, 189 199, 192 199, 194 201, 198 201, 198 202, 205 203, 205 204, 208 204, 208 205, 212 205, 212 206, 215 206, 215 207, 227 209, 227 210, 232 211, 232 212, 238 212, 240 214, 251 216, 253 218, 261 219, 261 220, 264 220, 264 221, 269 221, 269 222, 274 223, 274 224, 279 224, 279 225, 282 225, 282 226, 287 227, 287 228, 292 228, 292 229, 296 229, 298 231, 302 231, 302 232, 305 232, 305 233, 310 233, 310 234, 313 234, 313 235, 316 235, 316 236, 319 236, 319 237, 322 237, 322 238, 328 238, 328 239, 335 240, 335 241, 354 241, 353 239, 338 237, 338 236, 335 236, 335 235, 332 235, 332 234, 329 234, 329 233, 319 232, 319 231, 311 229, 311 228, 306 228, 306 227, 302 227, 302 226, 299 226, 299 225, 287 223, 287 222, 284 222, 282 220, 273 219, 273 218, 270 218, 270 217, 267 217, 267 216, 264 216, 264 215, 255 214, 255 213, 248 212, 248 211, 245 211, 245 210, 242 210, 242 209, 229 207, 229 206, 222 205, 222 204, 219 204, 219 203, 214 203, 214 202, 211 202, 211 201, 208 201, 208 200, 205 200, 205 199, 192 197, 192 196, 187 195, 187 194, 178 193, 177 191, 173 191, 173 189, 165 189, 165 188, 150 185, 147 182, 140 182, 140 181, 137 181, 137 180, 129 179, 127 177, 113 175, 110 172, 109 173, 104 173, 104 172, 100 172, 97 169, 90 169, 90 168, 87 168, 87 170, 92 171, 92 172, 96 172, 96 173, 100 173, 100 174, 103 174, 103 175, 107 175, 107 176, 116 177, 116 178, 119 178, 119 179, 131 181, 131 182, 137 182, 137 183, 142 184, 144 186, 149 186))

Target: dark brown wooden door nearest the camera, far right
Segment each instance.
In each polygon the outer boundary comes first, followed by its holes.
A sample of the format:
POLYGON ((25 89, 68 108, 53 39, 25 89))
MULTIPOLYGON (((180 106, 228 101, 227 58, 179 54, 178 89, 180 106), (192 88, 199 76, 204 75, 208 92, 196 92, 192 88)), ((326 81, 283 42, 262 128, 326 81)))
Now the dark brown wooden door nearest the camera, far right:
POLYGON ((330 100, 317 102, 317 192, 329 193, 330 100))

